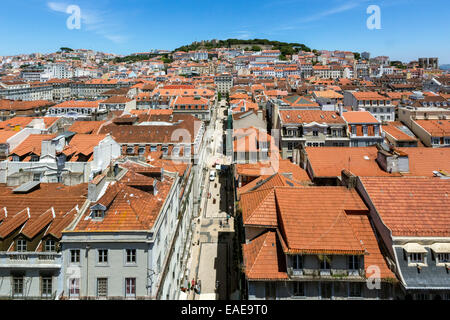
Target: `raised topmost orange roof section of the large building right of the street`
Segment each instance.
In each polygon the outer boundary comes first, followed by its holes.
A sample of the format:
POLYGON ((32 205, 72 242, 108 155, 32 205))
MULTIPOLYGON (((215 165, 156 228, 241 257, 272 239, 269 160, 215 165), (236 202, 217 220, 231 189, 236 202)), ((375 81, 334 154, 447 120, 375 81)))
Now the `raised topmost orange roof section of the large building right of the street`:
POLYGON ((288 252, 364 254, 346 213, 367 212, 354 189, 277 187, 275 192, 288 252))

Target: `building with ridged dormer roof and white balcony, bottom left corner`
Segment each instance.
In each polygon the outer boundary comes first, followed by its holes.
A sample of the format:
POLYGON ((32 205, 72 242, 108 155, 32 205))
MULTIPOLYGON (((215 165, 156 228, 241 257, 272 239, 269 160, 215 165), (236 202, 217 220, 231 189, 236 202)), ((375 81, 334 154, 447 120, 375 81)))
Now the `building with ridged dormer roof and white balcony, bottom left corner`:
POLYGON ((62 293, 62 230, 83 208, 86 186, 30 182, 0 187, 2 299, 55 299, 62 293))

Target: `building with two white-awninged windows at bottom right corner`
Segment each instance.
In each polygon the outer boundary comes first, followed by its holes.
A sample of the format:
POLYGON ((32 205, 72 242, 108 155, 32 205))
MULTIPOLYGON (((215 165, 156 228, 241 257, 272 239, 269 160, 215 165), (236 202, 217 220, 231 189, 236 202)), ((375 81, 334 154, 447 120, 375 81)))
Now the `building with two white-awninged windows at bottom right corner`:
POLYGON ((395 264, 403 295, 450 300, 450 180, 361 177, 357 188, 395 264))

